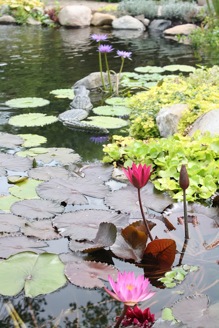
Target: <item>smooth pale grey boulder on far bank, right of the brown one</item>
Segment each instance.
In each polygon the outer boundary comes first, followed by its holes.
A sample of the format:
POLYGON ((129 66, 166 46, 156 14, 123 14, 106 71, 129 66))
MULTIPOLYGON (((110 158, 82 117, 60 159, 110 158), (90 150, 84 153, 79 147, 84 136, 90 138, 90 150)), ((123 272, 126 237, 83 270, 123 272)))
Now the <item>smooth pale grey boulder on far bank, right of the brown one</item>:
POLYGON ((122 30, 145 30, 145 26, 140 20, 129 15, 114 19, 112 27, 114 29, 122 30))

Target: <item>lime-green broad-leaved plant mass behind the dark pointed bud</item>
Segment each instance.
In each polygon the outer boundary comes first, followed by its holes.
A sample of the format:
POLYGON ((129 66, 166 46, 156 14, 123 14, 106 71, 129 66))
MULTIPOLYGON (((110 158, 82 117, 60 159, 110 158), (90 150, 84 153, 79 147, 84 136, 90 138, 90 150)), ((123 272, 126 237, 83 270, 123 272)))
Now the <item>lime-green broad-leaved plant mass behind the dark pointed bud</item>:
POLYGON ((146 163, 152 165, 151 176, 156 189, 168 191, 177 200, 183 200, 179 185, 182 164, 186 165, 190 186, 187 200, 207 199, 219 189, 219 136, 197 130, 191 137, 180 134, 166 138, 150 138, 147 141, 131 137, 113 136, 113 143, 104 147, 104 162, 119 161, 124 167, 146 163))

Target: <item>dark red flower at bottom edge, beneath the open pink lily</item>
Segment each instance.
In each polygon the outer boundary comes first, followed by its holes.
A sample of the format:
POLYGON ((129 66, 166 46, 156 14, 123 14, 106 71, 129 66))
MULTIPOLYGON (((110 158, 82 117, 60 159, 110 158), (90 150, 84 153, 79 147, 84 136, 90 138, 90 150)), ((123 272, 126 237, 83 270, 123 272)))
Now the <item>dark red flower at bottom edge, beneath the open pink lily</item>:
POLYGON ((138 306, 135 306, 133 308, 133 310, 129 306, 126 311, 126 317, 122 321, 122 325, 128 326, 130 324, 133 324, 133 325, 137 325, 141 328, 148 328, 148 327, 151 327, 151 325, 154 321, 155 321, 154 314, 150 313, 149 308, 145 309, 142 312, 142 310, 140 308, 138 308, 138 306))

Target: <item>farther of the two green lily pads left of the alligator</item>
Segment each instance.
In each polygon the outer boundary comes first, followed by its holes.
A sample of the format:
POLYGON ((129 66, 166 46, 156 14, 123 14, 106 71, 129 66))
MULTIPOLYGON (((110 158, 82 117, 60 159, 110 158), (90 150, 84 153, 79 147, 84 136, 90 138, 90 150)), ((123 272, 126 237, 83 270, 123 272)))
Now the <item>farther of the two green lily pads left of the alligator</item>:
POLYGON ((16 98, 6 101, 6 105, 15 108, 41 107, 48 105, 49 100, 36 97, 16 98))

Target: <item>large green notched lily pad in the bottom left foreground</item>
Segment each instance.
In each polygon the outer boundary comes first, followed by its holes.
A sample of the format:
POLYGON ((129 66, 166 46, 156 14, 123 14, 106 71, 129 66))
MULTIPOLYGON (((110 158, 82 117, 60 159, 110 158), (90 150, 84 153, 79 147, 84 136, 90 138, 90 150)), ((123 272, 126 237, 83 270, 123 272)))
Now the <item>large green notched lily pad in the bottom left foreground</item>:
POLYGON ((0 262, 0 293, 14 296, 20 291, 27 297, 48 294, 67 281, 65 264, 56 254, 22 252, 0 262))

